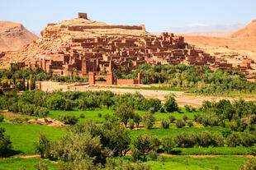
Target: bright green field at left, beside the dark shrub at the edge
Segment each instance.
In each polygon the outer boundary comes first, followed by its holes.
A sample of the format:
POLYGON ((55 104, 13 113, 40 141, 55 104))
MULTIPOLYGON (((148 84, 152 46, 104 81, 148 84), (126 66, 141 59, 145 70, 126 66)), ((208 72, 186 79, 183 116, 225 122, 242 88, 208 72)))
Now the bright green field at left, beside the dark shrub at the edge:
POLYGON ((34 142, 38 139, 38 132, 45 132, 50 140, 58 140, 65 134, 64 127, 45 126, 37 124, 9 124, 0 123, 11 137, 12 146, 17 154, 35 154, 34 142))

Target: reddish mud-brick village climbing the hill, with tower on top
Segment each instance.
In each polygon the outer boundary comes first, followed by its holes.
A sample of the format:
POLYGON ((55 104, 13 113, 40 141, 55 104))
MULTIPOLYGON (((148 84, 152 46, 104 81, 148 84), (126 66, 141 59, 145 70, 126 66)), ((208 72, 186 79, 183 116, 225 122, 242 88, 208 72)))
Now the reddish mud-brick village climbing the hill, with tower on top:
MULTIPOLYGON (((25 53, 31 52, 32 57, 26 57, 21 65, 41 67, 47 72, 53 70, 62 76, 111 74, 121 65, 135 69, 145 63, 232 67, 225 60, 219 61, 193 48, 182 36, 149 34, 144 25, 107 25, 90 21, 86 13, 78 13, 77 19, 48 24, 41 35, 41 39, 26 48, 25 53), (33 54, 35 46, 40 50, 33 54)), ((249 67, 247 64, 239 69, 245 71, 249 67)))

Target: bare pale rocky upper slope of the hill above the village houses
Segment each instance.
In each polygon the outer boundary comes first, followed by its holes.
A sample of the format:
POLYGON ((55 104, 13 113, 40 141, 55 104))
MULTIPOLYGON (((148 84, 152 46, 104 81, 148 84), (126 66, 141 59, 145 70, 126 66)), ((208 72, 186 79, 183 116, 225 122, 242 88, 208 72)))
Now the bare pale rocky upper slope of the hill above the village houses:
POLYGON ((48 24, 41 31, 40 39, 16 52, 0 57, 0 67, 9 67, 12 62, 33 61, 49 54, 58 53, 59 48, 71 46, 72 39, 93 39, 97 37, 139 37, 155 36, 145 30, 145 25, 107 25, 87 18, 73 18, 59 24, 48 24))

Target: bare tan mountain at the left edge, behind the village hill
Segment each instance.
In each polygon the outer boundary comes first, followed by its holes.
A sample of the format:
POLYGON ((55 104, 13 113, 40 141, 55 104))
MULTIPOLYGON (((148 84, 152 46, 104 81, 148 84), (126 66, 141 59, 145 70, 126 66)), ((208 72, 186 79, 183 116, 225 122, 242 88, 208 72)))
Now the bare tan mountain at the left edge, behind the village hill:
POLYGON ((14 51, 38 39, 20 23, 0 21, 0 51, 14 51))

